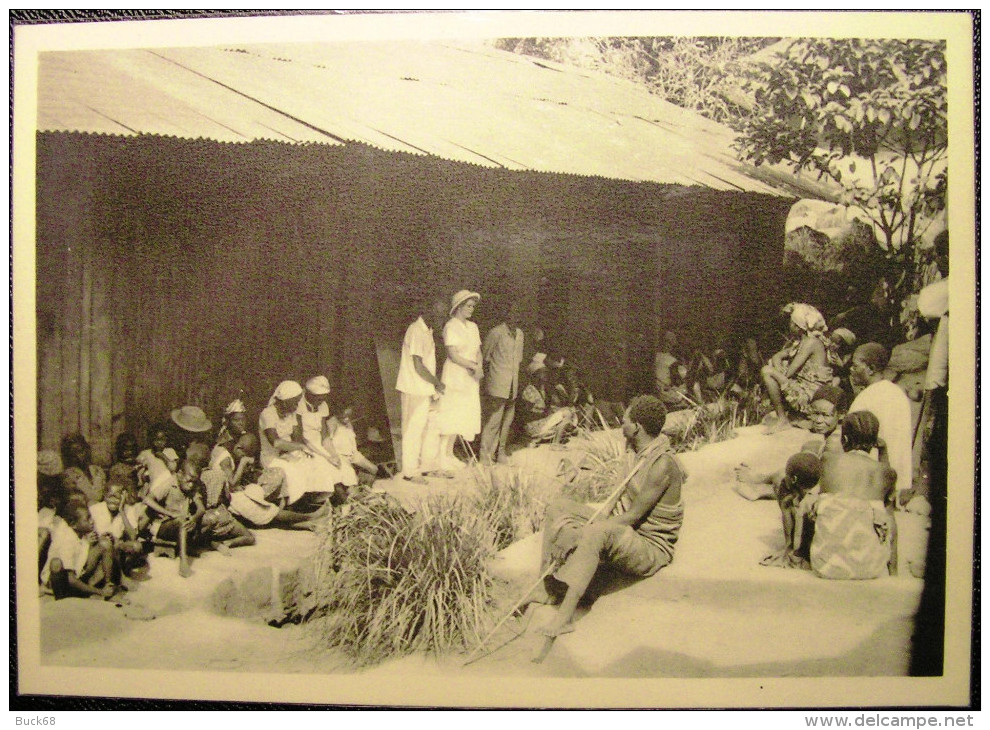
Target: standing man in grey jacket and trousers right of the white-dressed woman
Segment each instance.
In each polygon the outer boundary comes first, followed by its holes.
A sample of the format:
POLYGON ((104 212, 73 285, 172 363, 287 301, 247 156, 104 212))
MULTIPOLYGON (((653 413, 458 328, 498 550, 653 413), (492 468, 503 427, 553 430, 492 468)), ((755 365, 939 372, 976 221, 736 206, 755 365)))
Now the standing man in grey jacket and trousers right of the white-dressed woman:
POLYGON ((493 327, 481 347, 485 366, 484 419, 481 430, 481 460, 492 462, 498 452, 499 463, 508 461, 505 447, 516 415, 516 396, 519 393, 519 366, 523 358, 523 333, 516 325, 519 319, 517 305, 501 324, 493 327))

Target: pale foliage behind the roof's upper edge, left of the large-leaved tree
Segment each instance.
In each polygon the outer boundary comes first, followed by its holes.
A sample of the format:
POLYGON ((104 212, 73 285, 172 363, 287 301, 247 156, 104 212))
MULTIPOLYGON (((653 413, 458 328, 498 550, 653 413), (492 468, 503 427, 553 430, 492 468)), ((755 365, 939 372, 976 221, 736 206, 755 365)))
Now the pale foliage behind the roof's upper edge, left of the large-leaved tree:
POLYGON ((737 61, 775 38, 503 38, 503 50, 593 69, 644 85, 677 106, 727 123, 740 106, 737 61))

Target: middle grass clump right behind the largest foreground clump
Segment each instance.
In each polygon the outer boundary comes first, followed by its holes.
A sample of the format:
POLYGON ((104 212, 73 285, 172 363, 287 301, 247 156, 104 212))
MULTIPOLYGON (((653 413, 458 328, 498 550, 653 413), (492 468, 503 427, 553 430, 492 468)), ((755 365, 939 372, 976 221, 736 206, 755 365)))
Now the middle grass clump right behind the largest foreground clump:
POLYGON ((539 530, 547 504, 560 491, 559 483, 518 467, 473 464, 468 471, 471 507, 491 531, 496 550, 539 530))

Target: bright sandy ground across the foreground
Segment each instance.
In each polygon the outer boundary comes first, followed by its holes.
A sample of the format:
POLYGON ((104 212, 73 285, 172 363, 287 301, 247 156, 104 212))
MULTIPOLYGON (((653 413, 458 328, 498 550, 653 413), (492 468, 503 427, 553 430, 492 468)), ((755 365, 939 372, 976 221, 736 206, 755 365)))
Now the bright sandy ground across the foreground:
MULTIPOLYGON (((782 545, 780 517, 770 501, 747 502, 732 491, 733 467, 781 466, 806 441, 797 429, 772 437, 741 429, 737 438, 682 455, 689 478, 685 520, 674 563, 653 578, 613 585, 578 615, 577 630, 559 638, 542 664, 540 644, 525 633, 468 667, 464 657, 437 661, 410 656, 364 670, 388 678, 421 677, 786 677, 904 675, 912 617, 922 581, 908 565, 924 555, 927 520, 898 513, 901 571, 873 581, 826 581, 804 571, 764 568, 760 558, 782 545)), ((513 464, 552 475, 560 447, 527 449, 513 464)), ((458 488, 380 483, 412 504, 423 494, 458 488)), ((312 552, 308 532, 258 530, 258 544, 230 557, 207 553, 182 579, 175 561, 152 559, 152 579, 130 592, 153 620, 95 599, 41 601, 41 652, 46 665, 233 672, 350 671, 339 656, 316 647, 305 627, 276 629, 260 619, 216 615, 211 596, 228 576, 266 566, 291 568, 312 552)), ((496 570, 519 591, 537 575, 539 536, 516 543, 496 570)), ((533 625, 552 609, 531 613, 533 625)), ((501 639, 526 628, 510 622, 501 639)), ((496 642, 498 643, 498 641, 496 642)))

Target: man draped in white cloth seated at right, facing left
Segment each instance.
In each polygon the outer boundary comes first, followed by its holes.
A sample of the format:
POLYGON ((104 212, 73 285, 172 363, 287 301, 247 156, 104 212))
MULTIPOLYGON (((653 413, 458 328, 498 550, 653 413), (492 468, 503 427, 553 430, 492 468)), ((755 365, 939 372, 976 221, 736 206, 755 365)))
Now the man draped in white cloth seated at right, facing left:
MULTIPOLYGON (((849 406, 849 413, 870 411, 880 422, 880 438, 887 444, 890 466, 897 472, 896 493, 911 489, 911 402, 904 390, 883 377, 890 352, 877 342, 860 345, 849 365, 853 385, 866 386, 849 406)), ((898 501, 897 504, 900 502, 898 501)))

